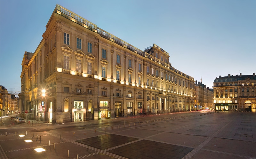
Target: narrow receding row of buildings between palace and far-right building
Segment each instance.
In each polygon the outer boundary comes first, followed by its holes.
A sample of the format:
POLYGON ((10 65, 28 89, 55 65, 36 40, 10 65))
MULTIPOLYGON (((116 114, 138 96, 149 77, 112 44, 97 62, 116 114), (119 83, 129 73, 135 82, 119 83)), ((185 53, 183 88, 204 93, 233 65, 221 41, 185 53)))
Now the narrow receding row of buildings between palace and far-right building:
POLYGON ((201 82, 195 83, 195 107, 194 110, 213 110, 213 90, 201 82))

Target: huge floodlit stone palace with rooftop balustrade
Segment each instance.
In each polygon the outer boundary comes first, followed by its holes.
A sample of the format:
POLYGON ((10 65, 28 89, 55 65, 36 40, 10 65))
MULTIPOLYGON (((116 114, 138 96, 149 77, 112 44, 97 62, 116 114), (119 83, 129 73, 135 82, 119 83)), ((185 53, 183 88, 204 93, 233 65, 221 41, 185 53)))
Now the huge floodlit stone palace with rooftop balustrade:
POLYGON ((169 57, 156 44, 141 51, 56 5, 36 51, 22 60, 21 111, 58 123, 189 111, 194 78, 169 57))

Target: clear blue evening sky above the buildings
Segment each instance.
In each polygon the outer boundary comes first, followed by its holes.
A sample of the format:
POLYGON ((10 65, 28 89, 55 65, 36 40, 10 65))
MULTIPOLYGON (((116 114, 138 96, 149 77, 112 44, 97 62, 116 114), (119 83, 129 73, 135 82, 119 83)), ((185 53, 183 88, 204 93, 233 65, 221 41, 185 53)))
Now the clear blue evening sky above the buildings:
POLYGON ((256 72, 255 0, 0 0, 0 85, 10 93, 21 91, 24 52, 35 52, 56 4, 142 51, 158 45, 206 87, 256 72))

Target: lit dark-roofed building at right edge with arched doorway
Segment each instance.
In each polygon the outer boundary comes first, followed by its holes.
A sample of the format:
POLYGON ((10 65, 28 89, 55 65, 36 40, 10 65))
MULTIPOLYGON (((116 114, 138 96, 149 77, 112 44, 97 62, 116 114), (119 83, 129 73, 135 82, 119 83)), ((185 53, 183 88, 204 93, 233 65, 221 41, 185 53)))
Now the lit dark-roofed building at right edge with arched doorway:
POLYGON ((213 85, 215 109, 219 111, 256 110, 256 77, 236 75, 215 78, 213 85))

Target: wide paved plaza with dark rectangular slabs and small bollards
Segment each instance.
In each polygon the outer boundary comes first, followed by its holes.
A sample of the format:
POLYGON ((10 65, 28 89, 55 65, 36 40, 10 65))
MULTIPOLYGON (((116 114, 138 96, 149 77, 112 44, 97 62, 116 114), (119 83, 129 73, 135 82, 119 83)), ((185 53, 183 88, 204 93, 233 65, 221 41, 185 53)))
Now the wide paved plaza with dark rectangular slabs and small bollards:
POLYGON ((2 124, 0 158, 255 159, 255 124, 252 112, 212 111, 55 125, 2 124), (24 141, 28 139, 32 142, 24 141), (39 147, 45 151, 36 152, 39 147))

